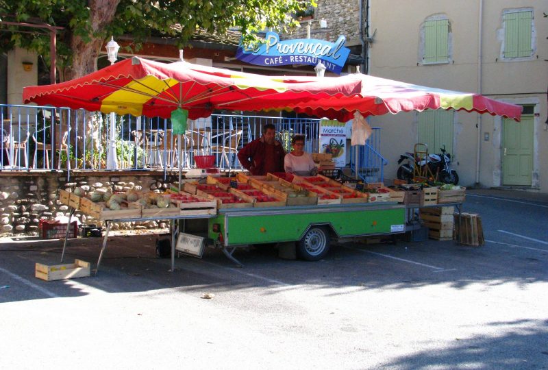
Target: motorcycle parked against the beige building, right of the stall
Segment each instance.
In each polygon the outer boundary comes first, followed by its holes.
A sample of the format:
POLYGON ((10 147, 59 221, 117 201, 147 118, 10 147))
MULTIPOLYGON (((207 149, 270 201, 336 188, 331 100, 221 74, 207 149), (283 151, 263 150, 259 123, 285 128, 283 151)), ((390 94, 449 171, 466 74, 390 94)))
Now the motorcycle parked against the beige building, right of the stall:
POLYGON ((405 154, 401 154, 398 160, 400 167, 397 171, 397 178, 399 180, 412 181, 414 167, 419 166, 423 168, 426 165, 434 176, 437 174, 437 180, 439 182, 457 185, 458 173, 449 166, 451 163, 451 154, 447 153, 445 146, 440 148, 440 151, 441 153, 439 154, 429 154, 427 160, 419 160, 420 158, 415 158, 414 153, 409 151, 406 151, 405 154), (404 161, 407 162, 401 164, 404 161))

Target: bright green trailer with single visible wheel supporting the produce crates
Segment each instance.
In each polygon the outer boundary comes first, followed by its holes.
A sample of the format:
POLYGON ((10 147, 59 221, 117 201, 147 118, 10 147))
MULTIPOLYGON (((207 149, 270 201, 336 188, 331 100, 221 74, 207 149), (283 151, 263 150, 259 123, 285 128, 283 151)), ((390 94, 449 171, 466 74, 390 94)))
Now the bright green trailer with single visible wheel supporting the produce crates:
POLYGON ((221 208, 208 221, 208 236, 236 264, 237 247, 284 242, 297 242, 299 257, 316 261, 327 254, 332 238, 401 234, 405 219, 405 206, 393 202, 221 208))

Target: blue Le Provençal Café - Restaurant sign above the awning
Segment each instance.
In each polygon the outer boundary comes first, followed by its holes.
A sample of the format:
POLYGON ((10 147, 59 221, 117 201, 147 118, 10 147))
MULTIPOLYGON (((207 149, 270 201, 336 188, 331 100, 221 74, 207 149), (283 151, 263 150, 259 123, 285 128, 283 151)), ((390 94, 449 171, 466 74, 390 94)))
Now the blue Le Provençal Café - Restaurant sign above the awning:
POLYGON ((336 42, 312 38, 280 41, 277 33, 267 32, 264 43, 248 47, 240 43, 236 59, 258 66, 315 66, 321 60, 327 71, 340 73, 350 53, 350 49, 344 47, 345 42, 345 36, 339 36, 336 42))

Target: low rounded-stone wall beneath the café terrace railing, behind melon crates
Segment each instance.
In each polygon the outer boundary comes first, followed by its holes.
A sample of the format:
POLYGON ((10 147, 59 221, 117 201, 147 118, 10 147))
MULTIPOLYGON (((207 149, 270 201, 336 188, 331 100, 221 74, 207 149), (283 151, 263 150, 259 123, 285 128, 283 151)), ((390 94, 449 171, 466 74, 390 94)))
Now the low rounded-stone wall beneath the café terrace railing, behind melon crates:
MULTIPOLYGON (((58 190, 82 186, 93 189, 100 186, 112 186, 114 190, 129 188, 149 189, 151 184, 162 180, 157 173, 140 173, 138 176, 103 173, 93 175, 71 175, 70 181, 66 175, 59 173, 0 173, 0 234, 10 236, 16 234, 38 234, 40 219, 53 220, 55 217, 69 216, 69 207, 58 201, 58 190)), ((82 223, 101 221, 87 217, 82 212, 75 212, 82 223)), ((144 229, 165 227, 155 221, 114 223, 111 230, 144 229)))

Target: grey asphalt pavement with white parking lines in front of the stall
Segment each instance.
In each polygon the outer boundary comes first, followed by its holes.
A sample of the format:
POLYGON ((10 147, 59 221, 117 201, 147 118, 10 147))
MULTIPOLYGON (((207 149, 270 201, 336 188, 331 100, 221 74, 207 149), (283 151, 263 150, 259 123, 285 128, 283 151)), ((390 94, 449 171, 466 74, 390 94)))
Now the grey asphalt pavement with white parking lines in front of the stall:
MULTIPOLYGON (((0 369, 548 369, 548 202, 469 194, 486 245, 155 258, 110 238, 96 277, 43 282, 59 241, 0 244, 0 369), (203 293, 214 295, 202 299, 203 293)), ((99 239, 69 240, 94 264, 99 239)))

